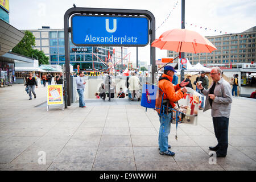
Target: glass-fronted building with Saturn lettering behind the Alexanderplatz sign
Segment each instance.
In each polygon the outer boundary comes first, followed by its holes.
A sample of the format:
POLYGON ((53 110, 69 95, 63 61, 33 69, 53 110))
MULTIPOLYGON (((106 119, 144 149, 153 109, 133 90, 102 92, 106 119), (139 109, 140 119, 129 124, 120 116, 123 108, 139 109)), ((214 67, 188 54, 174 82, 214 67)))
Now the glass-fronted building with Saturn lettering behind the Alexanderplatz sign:
MULTIPOLYGON (((26 30, 22 30, 23 32, 26 30)), ((38 30, 28 30, 35 36, 35 47, 39 51, 43 51, 49 56, 50 64, 65 64, 64 50, 64 30, 51 29, 50 27, 42 27, 38 30)), ((70 64, 76 69, 80 65, 83 71, 100 71, 106 69, 105 62, 108 59, 108 52, 113 57, 113 61, 121 60, 121 47, 76 47, 69 39, 70 64), (114 51, 115 49, 115 51, 114 51), (101 61, 102 60, 102 61, 101 61)), ((127 49, 123 48, 123 57, 127 55, 127 49)), ((127 64, 127 56, 123 59, 123 64, 127 64)), ((121 65, 117 69, 121 68, 121 65)))

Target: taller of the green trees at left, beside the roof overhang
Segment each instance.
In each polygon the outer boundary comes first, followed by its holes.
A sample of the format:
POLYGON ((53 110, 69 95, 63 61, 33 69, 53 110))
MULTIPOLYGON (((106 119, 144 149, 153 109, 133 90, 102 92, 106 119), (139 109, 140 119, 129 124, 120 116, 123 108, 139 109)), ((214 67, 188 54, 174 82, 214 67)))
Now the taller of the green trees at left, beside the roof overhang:
POLYGON ((35 36, 30 31, 26 31, 24 34, 23 39, 13 48, 12 52, 30 57, 33 50, 32 46, 35 46, 35 36))

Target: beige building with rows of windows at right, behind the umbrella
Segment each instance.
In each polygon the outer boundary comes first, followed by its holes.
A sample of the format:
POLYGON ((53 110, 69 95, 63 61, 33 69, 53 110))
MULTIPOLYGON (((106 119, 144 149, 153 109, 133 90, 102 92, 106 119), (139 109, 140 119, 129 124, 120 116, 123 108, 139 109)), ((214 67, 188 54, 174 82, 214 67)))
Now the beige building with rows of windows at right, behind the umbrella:
MULTIPOLYGON (((206 36, 217 50, 212 53, 185 53, 192 65, 227 66, 242 68, 245 63, 255 63, 256 26, 237 34, 206 36)), ((176 57, 175 51, 167 51, 168 57, 176 57)), ((177 60, 175 60, 177 62, 177 60)))

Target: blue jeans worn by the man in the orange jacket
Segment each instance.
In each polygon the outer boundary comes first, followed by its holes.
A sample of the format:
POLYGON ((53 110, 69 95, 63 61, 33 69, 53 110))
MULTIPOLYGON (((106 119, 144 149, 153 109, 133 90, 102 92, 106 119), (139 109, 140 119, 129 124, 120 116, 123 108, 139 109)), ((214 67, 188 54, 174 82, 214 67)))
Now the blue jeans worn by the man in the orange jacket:
POLYGON ((168 151, 168 135, 171 130, 172 113, 158 114, 160 121, 158 144, 161 152, 168 151))

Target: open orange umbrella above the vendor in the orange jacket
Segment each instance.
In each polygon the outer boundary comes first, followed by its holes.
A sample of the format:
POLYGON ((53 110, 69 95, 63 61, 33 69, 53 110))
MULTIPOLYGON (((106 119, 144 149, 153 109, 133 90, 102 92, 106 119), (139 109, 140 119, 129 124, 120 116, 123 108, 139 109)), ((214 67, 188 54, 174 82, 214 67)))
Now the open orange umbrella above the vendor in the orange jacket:
POLYGON ((167 49, 175 52, 212 52, 217 48, 199 33, 185 29, 173 29, 164 32, 159 39, 155 39, 152 47, 167 49))

